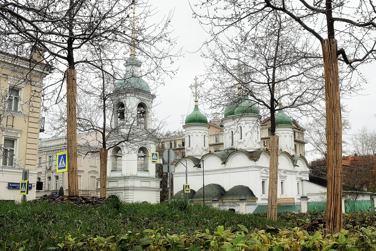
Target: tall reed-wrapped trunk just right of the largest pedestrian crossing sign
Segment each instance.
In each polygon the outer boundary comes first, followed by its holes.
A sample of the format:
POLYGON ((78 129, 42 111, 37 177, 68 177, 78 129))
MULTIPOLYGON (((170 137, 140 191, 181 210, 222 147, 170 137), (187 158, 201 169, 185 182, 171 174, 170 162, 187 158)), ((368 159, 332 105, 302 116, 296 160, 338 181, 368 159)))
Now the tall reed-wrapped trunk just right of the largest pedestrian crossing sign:
POLYGON ((76 70, 67 69, 67 164, 68 196, 78 196, 76 70))

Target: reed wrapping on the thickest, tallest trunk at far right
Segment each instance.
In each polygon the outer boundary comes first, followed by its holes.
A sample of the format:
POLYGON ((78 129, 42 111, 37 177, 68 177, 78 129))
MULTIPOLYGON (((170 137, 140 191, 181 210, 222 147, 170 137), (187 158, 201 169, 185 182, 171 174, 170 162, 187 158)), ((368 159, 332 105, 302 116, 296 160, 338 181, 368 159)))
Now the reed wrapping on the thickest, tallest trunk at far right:
POLYGON ((342 126, 337 40, 321 42, 324 60, 326 100, 327 199, 326 228, 342 229, 342 126))

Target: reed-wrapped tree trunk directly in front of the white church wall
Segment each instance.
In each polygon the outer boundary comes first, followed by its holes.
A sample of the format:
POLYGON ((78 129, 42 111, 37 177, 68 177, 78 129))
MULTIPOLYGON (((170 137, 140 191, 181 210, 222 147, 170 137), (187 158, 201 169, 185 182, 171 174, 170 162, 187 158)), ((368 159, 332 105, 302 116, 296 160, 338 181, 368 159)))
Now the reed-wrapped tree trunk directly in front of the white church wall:
POLYGON ((278 145, 279 136, 271 135, 268 188, 268 219, 273 221, 277 221, 278 145))

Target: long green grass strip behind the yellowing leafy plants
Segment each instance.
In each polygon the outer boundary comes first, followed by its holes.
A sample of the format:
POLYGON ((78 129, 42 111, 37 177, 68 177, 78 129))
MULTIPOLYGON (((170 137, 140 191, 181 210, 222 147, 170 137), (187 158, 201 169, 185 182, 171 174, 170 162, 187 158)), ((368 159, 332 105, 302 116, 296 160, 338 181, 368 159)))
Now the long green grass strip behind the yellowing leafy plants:
POLYGON ((285 221, 272 222, 253 215, 235 214, 202 205, 192 205, 186 211, 176 204, 108 203, 102 206, 77 206, 69 203, 53 205, 14 204, 0 202, 0 241, 22 242, 31 239, 35 250, 53 246, 71 234, 111 236, 127 231, 163 228, 162 234, 190 234, 196 230, 214 231, 218 225, 233 230, 238 224, 249 229, 291 226, 285 221))

